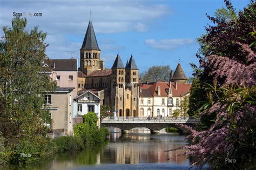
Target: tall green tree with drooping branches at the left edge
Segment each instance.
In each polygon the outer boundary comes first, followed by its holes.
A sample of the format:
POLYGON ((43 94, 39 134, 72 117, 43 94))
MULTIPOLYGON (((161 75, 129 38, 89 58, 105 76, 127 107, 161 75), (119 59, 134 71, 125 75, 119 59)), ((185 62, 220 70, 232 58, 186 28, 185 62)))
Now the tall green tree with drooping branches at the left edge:
POLYGON ((47 59, 46 33, 37 27, 26 30, 26 24, 25 18, 12 19, 12 28, 4 26, 0 40, 0 132, 6 150, 14 154, 26 144, 44 148, 45 123, 50 123, 39 95, 53 90, 49 76, 39 73, 47 59))

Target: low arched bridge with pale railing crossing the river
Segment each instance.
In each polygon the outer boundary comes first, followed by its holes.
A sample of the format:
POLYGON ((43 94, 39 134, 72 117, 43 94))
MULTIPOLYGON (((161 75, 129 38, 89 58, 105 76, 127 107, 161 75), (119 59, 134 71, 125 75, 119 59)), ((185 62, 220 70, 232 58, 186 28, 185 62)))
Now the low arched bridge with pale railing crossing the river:
POLYGON ((107 117, 102 120, 102 126, 105 127, 117 127, 122 130, 122 133, 129 133, 132 128, 146 127, 149 128, 151 133, 159 133, 159 131, 165 127, 176 127, 182 133, 190 133, 183 127, 179 127, 179 124, 185 124, 193 126, 199 123, 199 119, 193 117, 153 117, 151 119, 147 117, 107 117))

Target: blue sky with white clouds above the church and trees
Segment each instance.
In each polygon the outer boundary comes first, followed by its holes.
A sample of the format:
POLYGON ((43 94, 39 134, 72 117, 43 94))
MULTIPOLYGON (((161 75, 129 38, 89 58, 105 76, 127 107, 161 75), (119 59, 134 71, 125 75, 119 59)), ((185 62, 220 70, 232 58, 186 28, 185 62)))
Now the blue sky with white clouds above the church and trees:
MULTIPOLYGON (((242 10, 250 0, 232 0, 242 10)), ((124 65, 133 55, 139 72, 152 65, 170 65, 180 60, 187 77, 190 63, 198 65, 197 38, 212 25, 206 17, 225 6, 224 0, 134 0, 134 1, 0 1, 0 26, 11 27, 15 13, 42 13, 26 17, 28 29, 38 26, 48 33, 46 54, 51 59, 78 59, 91 18, 105 67, 111 68, 119 52, 124 65), (91 11, 91 15, 90 15, 91 11)), ((2 29, 0 30, 3 36, 2 29)))

